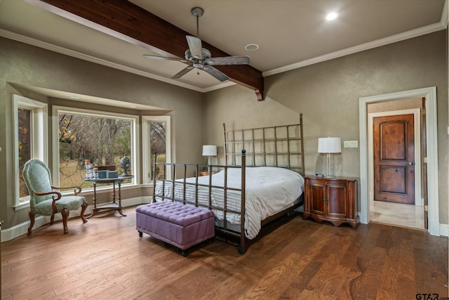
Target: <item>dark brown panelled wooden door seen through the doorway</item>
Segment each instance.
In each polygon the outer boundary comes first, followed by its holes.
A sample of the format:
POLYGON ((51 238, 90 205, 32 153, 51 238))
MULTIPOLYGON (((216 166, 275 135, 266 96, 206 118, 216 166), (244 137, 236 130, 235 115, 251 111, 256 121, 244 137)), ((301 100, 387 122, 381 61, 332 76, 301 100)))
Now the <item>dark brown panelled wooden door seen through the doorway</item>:
POLYGON ((374 200, 415 204, 413 114, 373 120, 374 200))

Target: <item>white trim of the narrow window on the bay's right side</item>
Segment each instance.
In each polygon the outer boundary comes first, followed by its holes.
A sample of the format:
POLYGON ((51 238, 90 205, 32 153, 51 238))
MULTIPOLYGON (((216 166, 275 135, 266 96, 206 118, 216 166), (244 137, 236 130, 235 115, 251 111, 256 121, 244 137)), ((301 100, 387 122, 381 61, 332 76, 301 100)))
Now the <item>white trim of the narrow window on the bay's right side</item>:
MULTIPOLYGON (((150 126, 149 122, 166 122, 166 162, 171 162, 171 118, 170 116, 143 116, 142 117, 142 151, 144 155, 142 156, 142 174, 143 174, 143 184, 153 184, 151 178, 151 159, 152 150, 150 149, 149 133, 150 126)), ((171 170, 167 170, 167 178, 171 178, 171 170)))

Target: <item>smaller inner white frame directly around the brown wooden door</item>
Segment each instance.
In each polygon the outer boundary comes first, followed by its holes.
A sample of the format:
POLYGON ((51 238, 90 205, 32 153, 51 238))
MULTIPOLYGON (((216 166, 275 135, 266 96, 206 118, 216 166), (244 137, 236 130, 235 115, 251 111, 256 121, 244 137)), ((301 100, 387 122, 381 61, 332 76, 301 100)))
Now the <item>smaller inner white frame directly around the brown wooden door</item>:
POLYGON ((415 205, 422 207, 424 199, 421 197, 421 120, 420 109, 394 110, 389 112, 373 112, 368 114, 368 195, 369 203, 374 201, 374 165, 373 165, 373 122, 375 117, 391 117, 398 115, 413 115, 413 134, 415 136, 415 205))

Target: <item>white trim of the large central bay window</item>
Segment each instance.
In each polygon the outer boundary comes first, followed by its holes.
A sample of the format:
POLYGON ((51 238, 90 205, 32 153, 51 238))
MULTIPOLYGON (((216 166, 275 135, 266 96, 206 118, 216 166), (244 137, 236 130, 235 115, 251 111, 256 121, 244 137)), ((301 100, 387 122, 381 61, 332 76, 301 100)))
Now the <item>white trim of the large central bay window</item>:
MULTIPOLYGON (((131 153, 130 157, 133 157, 131 159, 131 168, 133 170, 134 178, 132 180, 132 183, 127 184, 129 185, 136 185, 139 180, 139 174, 140 174, 140 164, 138 164, 138 157, 140 157, 140 143, 138 136, 140 135, 140 130, 138 126, 138 120, 139 117, 136 115, 126 115, 126 114, 120 114, 116 112, 104 112, 100 110, 85 110, 82 108, 74 108, 74 107, 65 107, 65 106, 53 106, 52 110, 52 142, 53 142, 53 168, 51 171, 52 174, 52 180, 54 183, 59 184, 59 135, 57 134, 59 131, 59 114, 60 113, 66 113, 66 114, 77 114, 77 115, 85 115, 89 117, 111 117, 114 119, 124 119, 124 120, 130 120, 131 121, 131 153)), ((83 189, 83 190, 93 190, 93 188, 83 189)))

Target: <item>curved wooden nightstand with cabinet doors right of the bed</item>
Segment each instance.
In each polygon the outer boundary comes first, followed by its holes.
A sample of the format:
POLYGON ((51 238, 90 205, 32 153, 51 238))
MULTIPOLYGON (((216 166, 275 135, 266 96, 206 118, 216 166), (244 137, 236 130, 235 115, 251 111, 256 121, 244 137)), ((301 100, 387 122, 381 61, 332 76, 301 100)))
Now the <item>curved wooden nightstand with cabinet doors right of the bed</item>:
POLYGON ((329 221, 335 226, 349 223, 358 227, 356 217, 358 178, 304 177, 303 219, 329 221))

